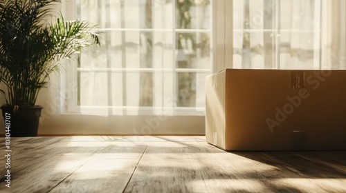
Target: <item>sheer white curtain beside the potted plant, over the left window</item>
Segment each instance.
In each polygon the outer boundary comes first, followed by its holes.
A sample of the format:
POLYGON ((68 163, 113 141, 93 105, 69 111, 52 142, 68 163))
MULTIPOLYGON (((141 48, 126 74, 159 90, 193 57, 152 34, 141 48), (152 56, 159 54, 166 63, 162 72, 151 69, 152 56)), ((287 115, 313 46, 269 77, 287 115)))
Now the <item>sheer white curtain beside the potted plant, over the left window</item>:
POLYGON ((138 114, 139 108, 172 100, 173 74, 163 72, 174 63, 172 2, 88 0, 78 6, 79 18, 97 25, 102 35, 101 48, 80 56, 78 105, 138 114))

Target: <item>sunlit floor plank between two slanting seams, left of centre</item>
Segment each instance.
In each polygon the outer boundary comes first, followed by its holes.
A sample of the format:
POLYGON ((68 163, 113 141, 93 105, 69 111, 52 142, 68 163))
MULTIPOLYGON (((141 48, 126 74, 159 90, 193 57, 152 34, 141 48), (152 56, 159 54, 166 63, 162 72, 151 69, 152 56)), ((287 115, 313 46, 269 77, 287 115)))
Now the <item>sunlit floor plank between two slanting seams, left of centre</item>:
POLYGON ((51 192, 122 192, 145 146, 109 145, 51 192))

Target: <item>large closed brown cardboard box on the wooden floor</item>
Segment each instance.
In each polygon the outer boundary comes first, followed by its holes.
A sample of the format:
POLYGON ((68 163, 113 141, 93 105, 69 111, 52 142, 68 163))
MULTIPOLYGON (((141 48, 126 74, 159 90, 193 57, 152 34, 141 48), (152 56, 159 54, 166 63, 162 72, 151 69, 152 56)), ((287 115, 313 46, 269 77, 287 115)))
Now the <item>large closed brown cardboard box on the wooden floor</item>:
POLYGON ((346 150, 346 70, 212 74, 206 140, 224 150, 346 150))

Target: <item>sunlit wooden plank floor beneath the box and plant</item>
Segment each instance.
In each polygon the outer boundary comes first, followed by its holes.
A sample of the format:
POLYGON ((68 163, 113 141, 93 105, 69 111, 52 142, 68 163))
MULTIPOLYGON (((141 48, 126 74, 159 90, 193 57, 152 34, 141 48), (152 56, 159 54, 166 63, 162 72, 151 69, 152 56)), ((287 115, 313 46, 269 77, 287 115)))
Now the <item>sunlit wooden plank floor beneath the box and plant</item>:
POLYGON ((0 192, 346 192, 346 152, 224 152, 204 136, 13 138, 10 150, 0 192))

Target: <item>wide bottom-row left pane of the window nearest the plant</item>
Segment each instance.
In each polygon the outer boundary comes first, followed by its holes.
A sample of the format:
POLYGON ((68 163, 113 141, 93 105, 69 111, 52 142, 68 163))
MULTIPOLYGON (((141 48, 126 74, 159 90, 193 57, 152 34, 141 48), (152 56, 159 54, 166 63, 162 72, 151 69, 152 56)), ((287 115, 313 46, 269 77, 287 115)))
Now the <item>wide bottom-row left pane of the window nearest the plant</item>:
POLYGON ((152 107, 152 72, 79 72, 79 105, 152 107))

